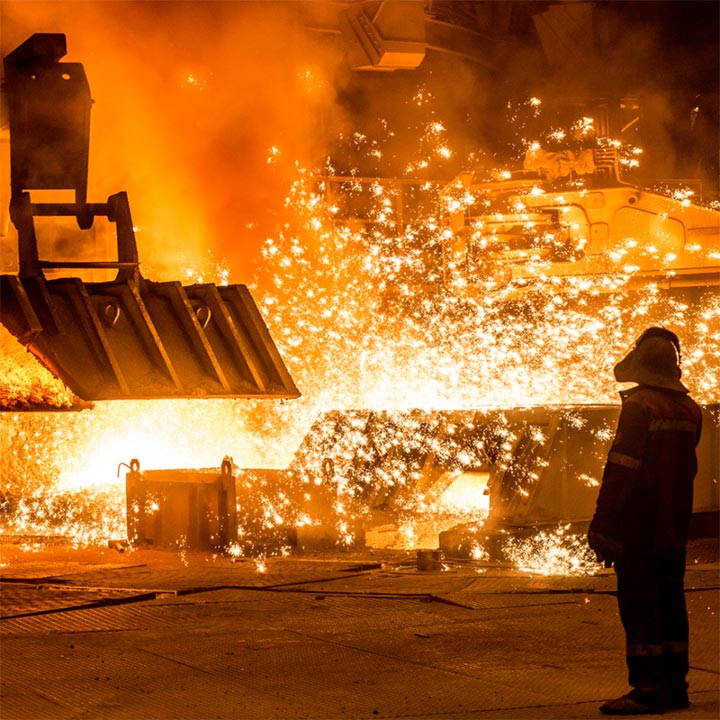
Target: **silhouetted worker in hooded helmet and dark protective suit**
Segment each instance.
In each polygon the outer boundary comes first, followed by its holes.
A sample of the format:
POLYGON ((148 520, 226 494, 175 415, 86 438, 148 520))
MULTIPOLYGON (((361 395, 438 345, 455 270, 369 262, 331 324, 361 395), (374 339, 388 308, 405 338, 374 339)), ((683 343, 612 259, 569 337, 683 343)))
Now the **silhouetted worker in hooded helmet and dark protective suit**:
POLYGON ((613 564, 632 690, 600 707, 640 715, 689 705, 684 574, 702 415, 680 382, 680 342, 646 330, 615 366, 622 409, 588 543, 613 564))

